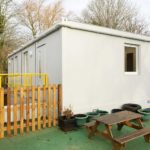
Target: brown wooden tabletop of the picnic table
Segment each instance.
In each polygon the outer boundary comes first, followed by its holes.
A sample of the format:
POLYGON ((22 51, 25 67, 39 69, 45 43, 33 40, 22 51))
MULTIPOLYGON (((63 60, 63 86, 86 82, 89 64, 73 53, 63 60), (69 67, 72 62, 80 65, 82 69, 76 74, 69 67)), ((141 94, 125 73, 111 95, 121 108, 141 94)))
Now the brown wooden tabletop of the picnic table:
POLYGON ((106 125, 113 125, 113 124, 117 124, 117 123, 121 123, 121 122, 125 122, 125 121, 138 119, 141 117, 142 117, 142 115, 140 115, 138 113, 134 113, 131 111, 121 111, 121 112, 112 113, 109 115, 99 117, 96 119, 96 121, 99 123, 106 124, 106 125))

